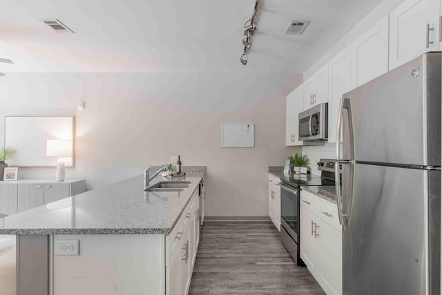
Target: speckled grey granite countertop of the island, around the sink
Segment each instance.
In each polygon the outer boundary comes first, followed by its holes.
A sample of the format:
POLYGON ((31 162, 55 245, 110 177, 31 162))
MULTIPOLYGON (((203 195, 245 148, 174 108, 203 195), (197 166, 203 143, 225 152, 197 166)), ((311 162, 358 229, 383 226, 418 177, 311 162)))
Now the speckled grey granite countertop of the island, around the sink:
POLYGON ((204 176, 189 170, 185 178, 157 176, 150 183, 190 181, 186 191, 145 192, 144 175, 137 175, 1 218, 0 235, 170 234, 204 176))

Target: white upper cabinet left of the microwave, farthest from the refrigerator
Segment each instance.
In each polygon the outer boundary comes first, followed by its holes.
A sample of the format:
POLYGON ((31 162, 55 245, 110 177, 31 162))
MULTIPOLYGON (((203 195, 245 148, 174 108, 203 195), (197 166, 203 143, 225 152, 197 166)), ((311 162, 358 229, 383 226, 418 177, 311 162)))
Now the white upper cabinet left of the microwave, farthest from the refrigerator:
POLYGON ((299 140, 298 114, 304 111, 304 84, 301 84, 287 95, 286 118, 285 118, 285 145, 302 145, 299 140))

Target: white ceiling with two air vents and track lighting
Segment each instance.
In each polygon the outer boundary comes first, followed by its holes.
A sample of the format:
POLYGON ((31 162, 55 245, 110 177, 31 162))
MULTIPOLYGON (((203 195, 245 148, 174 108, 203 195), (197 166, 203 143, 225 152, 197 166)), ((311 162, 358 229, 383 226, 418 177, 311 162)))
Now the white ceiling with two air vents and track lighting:
POLYGON ((260 0, 242 66, 254 0, 1 0, 0 57, 15 64, 0 72, 303 73, 382 1, 260 0), (39 19, 59 19, 75 34, 39 19), (311 23, 283 36, 292 20, 311 23))

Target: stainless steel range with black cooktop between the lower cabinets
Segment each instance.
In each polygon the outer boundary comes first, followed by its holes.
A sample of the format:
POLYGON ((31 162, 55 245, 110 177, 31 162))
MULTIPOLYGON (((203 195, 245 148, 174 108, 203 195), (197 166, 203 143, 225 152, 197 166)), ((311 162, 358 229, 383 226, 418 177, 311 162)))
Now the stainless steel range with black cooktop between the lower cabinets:
POLYGON ((295 174, 281 178, 281 240, 299 266, 305 266, 300 258, 300 186, 335 185, 334 159, 321 159, 318 169, 321 175, 295 174))

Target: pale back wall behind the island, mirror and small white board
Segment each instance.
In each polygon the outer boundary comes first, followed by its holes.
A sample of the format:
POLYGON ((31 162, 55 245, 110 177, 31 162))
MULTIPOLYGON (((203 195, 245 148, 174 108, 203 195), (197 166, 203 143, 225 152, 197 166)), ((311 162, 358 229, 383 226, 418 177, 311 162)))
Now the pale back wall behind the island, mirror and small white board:
MULTIPOLYGON (((267 166, 300 151, 285 147, 285 95, 301 82, 287 74, 8 74, 0 117, 76 115, 67 178, 86 178, 89 189, 181 155, 184 165, 207 166, 207 216, 267 216, 267 166), (77 111, 81 97, 85 111, 77 111), (256 147, 222 149, 222 122, 254 122, 256 147)), ((19 177, 54 174, 20 169, 19 177)))

